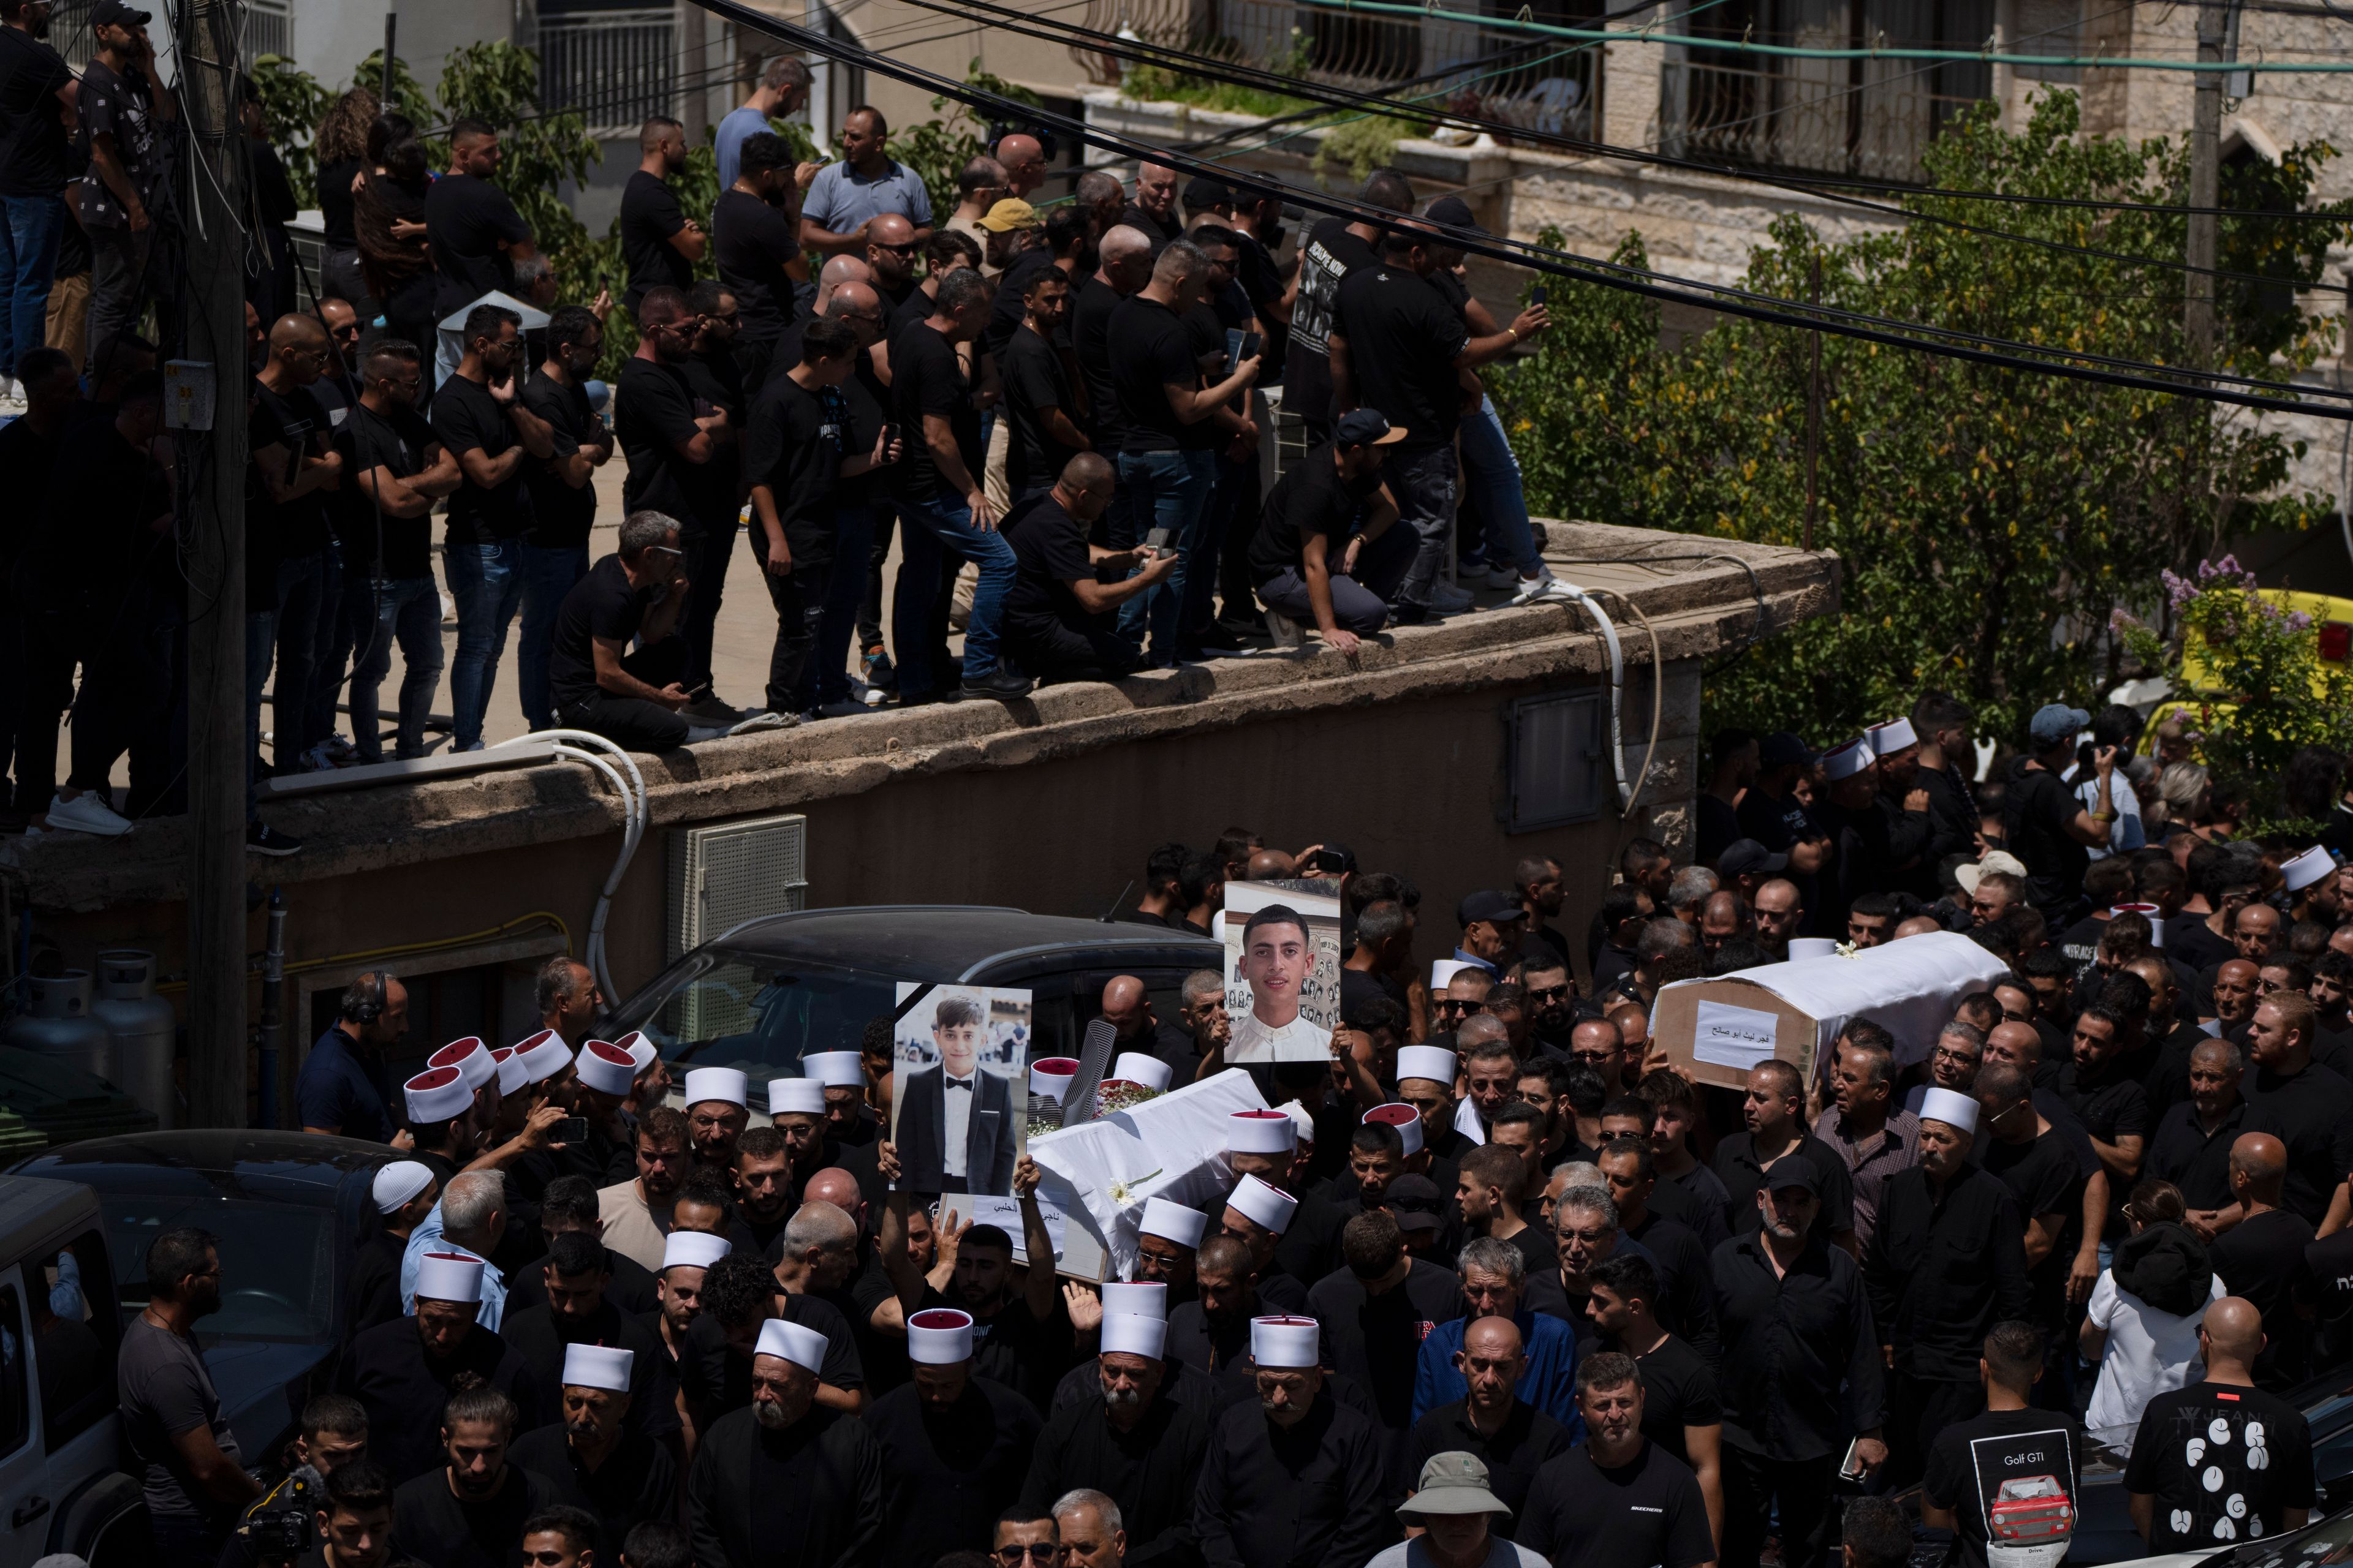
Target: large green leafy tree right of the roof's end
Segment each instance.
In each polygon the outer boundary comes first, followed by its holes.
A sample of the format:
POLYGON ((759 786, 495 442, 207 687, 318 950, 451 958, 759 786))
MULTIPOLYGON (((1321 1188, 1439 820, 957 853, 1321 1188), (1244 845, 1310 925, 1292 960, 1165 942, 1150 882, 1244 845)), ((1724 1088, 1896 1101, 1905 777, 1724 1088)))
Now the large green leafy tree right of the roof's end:
MULTIPOLYGON (((2249 209, 2304 207, 2327 146, 2233 176, 2249 209)), ((2075 99, 2038 99, 2002 132, 1991 106, 1925 155, 1932 186, 2179 200, 2188 155, 2078 136, 2075 99)), ((1984 202, 1908 205, 1984 223, 1984 202)), ((2348 212, 2353 205, 2332 207, 2348 212)), ((2005 207, 2002 226, 2068 244, 2181 254, 2162 212, 2005 207)), ((2334 341, 2299 308, 2339 223, 2226 219, 2221 263, 2282 280, 2226 294, 2233 369, 2285 383, 2334 341)), ((1548 235, 1558 242, 1558 235, 1548 235)), ((1640 235, 1619 261, 1642 266, 1640 235)), ((1937 223, 1824 244, 1781 219, 1746 287, 1784 299, 1962 327, 2052 348, 2181 362, 2181 273, 2057 254, 1937 223)), ((1529 503, 1682 534, 1795 545, 1807 515, 1812 334, 1722 320, 1680 350, 1652 301, 1562 284, 1532 357, 1492 374, 1515 421, 1529 503)), ((2162 569, 2186 571, 2226 531, 2301 529, 2320 496, 2282 494, 2297 449, 2254 411, 1821 339, 1817 548, 1842 562, 1840 611, 1772 637, 1708 677, 1706 701, 1751 726, 1835 736, 1904 712, 1927 686, 1979 705, 1988 733, 2122 672, 2111 614, 2148 609, 2167 635, 2162 569)))

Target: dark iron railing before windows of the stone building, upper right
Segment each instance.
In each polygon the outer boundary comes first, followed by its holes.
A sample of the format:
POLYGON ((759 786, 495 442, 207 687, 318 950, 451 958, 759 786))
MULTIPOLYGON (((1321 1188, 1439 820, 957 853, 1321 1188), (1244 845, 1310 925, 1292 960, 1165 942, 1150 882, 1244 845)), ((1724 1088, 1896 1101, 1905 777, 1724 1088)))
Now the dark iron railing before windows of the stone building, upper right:
MULTIPOLYGON (((1991 0, 1734 0, 1694 35, 1866 49, 1984 49, 1991 0)), ((1765 59, 1678 49, 1659 82, 1666 153, 1760 169, 1918 181, 1946 120, 1993 92, 1979 61, 1765 59)))

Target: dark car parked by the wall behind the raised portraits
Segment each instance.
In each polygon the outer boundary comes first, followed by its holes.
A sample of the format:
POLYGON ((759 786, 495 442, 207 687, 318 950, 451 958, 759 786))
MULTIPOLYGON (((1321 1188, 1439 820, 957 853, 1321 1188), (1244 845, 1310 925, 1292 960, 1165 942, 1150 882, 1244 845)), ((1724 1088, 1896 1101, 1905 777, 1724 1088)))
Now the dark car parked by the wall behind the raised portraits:
POLYGON ((1028 987, 1031 1058, 1078 1056, 1104 985, 1136 976, 1162 1023, 1195 969, 1221 969, 1205 936, 1136 922, 986 905, 873 905, 753 919, 687 952, 614 1013, 680 1067, 741 1067, 753 1105, 816 1051, 856 1051, 904 983, 1028 987))

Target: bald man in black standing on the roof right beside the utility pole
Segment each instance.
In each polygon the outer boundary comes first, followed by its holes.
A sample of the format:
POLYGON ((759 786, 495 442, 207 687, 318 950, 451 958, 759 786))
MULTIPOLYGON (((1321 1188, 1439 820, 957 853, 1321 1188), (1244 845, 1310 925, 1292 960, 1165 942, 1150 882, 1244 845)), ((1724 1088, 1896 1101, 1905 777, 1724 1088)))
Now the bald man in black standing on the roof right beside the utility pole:
MULTIPOLYGON (((275 557, 275 595, 268 609, 247 609, 247 621, 261 635, 261 670, 245 682, 247 757, 261 748, 261 677, 268 675, 271 649, 278 649, 278 722, 280 741, 299 738, 296 717, 311 703, 311 670, 318 663, 318 618, 325 595, 327 496, 344 487, 344 456, 329 447, 334 421, 311 395, 327 371, 334 343, 311 315, 280 315, 271 327, 268 360, 254 376, 249 423, 249 491, 264 491, 275 512, 275 527, 256 534, 256 550, 275 557)), ((254 639, 247 637, 247 646, 254 639)), ((278 748, 278 762, 292 764, 301 745, 278 748)), ((252 766, 252 764, 247 764, 252 766)), ((247 780, 249 783, 249 780, 247 780)), ((256 846, 264 842, 301 849, 275 827, 254 823, 256 846)), ((292 853, 266 849, 264 853, 292 853)))

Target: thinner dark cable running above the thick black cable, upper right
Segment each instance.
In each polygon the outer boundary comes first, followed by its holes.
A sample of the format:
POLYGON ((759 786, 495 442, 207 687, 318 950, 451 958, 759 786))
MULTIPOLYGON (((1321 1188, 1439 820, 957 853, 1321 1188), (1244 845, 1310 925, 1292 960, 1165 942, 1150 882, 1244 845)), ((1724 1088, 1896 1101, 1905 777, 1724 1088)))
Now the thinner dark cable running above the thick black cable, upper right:
MULTIPOLYGON (((1708 0, 1708 2, 1713 2, 1713 0, 1708 0)), ((932 9, 932 12, 953 12, 953 9, 958 9, 958 7, 944 5, 941 0, 908 0, 908 5, 915 5, 915 7, 922 7, 922 9, 932 9)), ((1859 195, 1831 195, 1831 193, 1821 193, 1821 190, 1812 188, 1809 183, 1802 183, 1802 181, 1795 181, 1795 179, 1788 179, 1788 176, 1779 176, 1779 174, 1769 174, 1769 172, 1734 169, 1734 167, 1727 167, 1727 165, 1711 165, 1711 162, 1697 160, 1697 158, 1675 158, 1675 155, 1668 155, 1668 153, 1654 153, 1654 150, 1647 150, 1647 148, 1624 148, 1624 146, 1607 143, 1607 141, 1593 141, 1593 139, 1586 139, 1586 136, 1572 136, 1567 132, 1529 129, 1529 127, 1522 127, 1522 125, 1515 125, 1515 122, 1508 122, 1508 120, 1494 120, 1494 118, 1478 115, 1478 113, 1466 113, 1466 110, 1459 110, 1459 108, 1442 108, 1442 110, 1431 110, 1428 106, 1419 106, 1417 108, 1412 101, 1400 101, 1395 96, 1358 92, 1358 89, 1351 89, 1351 87, 1337 87, 1337 85, 1327 85, 1327 82, 1301 82, 1297 78, 1282 78, 1282 75, 1275 75, 1271 71, 1261 71, 1257 66, 1240 66, 1235 61, 1221 61, 1219 56, 1193 52, 1193 49, 1179 49, 1174 45, 1155 45, 1151 40, 1127 40, 1127 38, 1120 38, 1120 35, 1113 35, 1113 33, 1099 33, 1094 28, 1075 28, 1071 24, 1028 21, 1026 12, 1016 12, 1016 9, 1009 9, 1009 7, 1002 7, 1002 5, 991 5, 988 0, 960 0, 960 5, 965 9, 981 9, 981 12, 988 12, 988 14, 998 16, 998 28, 1000 31, 1016 33, 1016 35, 1024 35, 1024 38, 1038 38, 1042 42, 1061 42, 1068 35, 1082 35, 1082 38, 1087 38, 1089 47, 1096 47, 1104 54, 1113 54, 1113 56, 1122 56, 1122 59, 1134 59, 1139 63, 1148 63, 1148 66, 1162 68, 1162 71, 1181 66, 1186 73, 1193 73, 1193 75, 1205 75, 1205 78, 1212 78, 1212 80, 1228 80, 1228 82, 1235 82, 1235 85, 1261 87, 1266 92, 1282 92, 1287 96, 1318 96, 1318 101, 1322 106, 1327 106, 1327 108, 1341 108, 1341 106, 1346 106, 1346 108, 1362 108, 1369 115, 1393 115, 1393 118, 1400 118, 1400 120, 1438 118, 1438 120, 1445 120, 1445 122, 1452 122, 1452 125, 1461 125, 1466 129, 1487 132, 1489 136, 1511 136, 1513 141, 1527 141, 1527 143, 1544 146, 1544 148, 1565 148, 1565 150, 1572 150, 1572 153, 1586 153, 1586 155, 1598 155, 1598 158, 1621 158, 1621 160, 1642 162, 1642 165, 1652 165, 1652 167, 1680 169, 1680 172, 1687 172, 1687 174, 1706 174, 1706 176, 1720 176, 1720 179, 1737 179, 1737 181, 1744 181, 1744 183, 1758 183, 1758 186, 1772 186, 1772 188, 1784 188, 1784 190, 1798 190, 1798 193, 1805 193, 1805 195, 1814 195, 1817 200, 1838 202, 1840 207, 1852 207, 1852 209, 1859 209, 1859 212, 1871 212, 1871 214, 1878 214, 1878 216, 1885 216, 1885 219, 1934 223, 1939 228, 1955 228, 1960 233, 1972 233, 1972 235, 1984 235, 1984 237, 1998 237, 1998 240, 2014 240, 2014 242, 2033 247, 2033 249, 2047 249, 2047 252, 2059 252, 2059 254, 2092 256, 2092 259, 2120 261, 2120 263, 2129 263, 2129 266, 2153 266, 2153 268, 2165 268, 2165 270, 2186 273, 2186 275, 2228 277, 2233 282, 2249 282, 2249 284, 2259 284, 2259 287, 2278 287, 2280 282, 2289 282, 2289 280, 2271 277, 2271 275, 2264 275, 2264 273, 2240 273, 2240 270, 2233 270, 2233 268, 2202 268, 2202 266, 2193 266, 2188 261, 2174 261, 2174 259, 2167 259, 2167 256, 2141 256, 2141 254, 2132 254, 2132 252, 2108 252, 2108 249, 2087 247, 2087 244, 2071 244, 2066 240, 2045 240, 2040 235, 2021 235, 2021 233, 2012 233, 2012 230, 2002 230, 2002 228, 1988 228, 1988 226, 1981 226, 1981 223, 1967 223, 1962 219, 1951 219, 1951 216, 1944 216, 1944 214, 1937 214, 1937 212, 1915 212, 1911 207, 1887 207, 1882 202, 1871 202, 1871 200, 1864 200, 1859 195)), ((1591 45, 1581 45, 1581 47, 1591 47, 1591 45)), ((1546 56, 1546 59, 1553 59, 1553 56, 1546 56)), ((1452 78, 1452 75, 1459 75, 1461 71, 1466 71, 1473 63, 1480 63, 1480 61, 1466 61, 1464 66, 1452 66, 1445 73, 1431 73, 1431 75, 1449 75, 1452 78)), ((1546 61, 1529 61, 1529 63, 1520 63, 1520 66, 1511 66, 1511 68, 1513 71, 1532 71, 1539 63, 1546 63, 1546 61)), ((1487 73, 1487 75, 1499 75, 1499 71, 1497 73, 1487 73)), ((1426 80, 1426 78, 1417 78, 1417 80, 1426 80)), ((1471 78, 1471 80, 1480 80, 1480 78, 1471 78)), ((1322 113, 1322 108, 1297 110, 1292 115, 1282 115, 1278 120, 1268 120, 1261 127, 1247 127, 1247 129, 1224 132, 1219 139, 1212 139, 1207 143, 1191 143, 1184 150, 1205 153, 1209 146, 1217 146, 1224 139, 1233 139, 1233 136, 1240 136, 1240 134, 1254 134, 1254 132, 1261 132, 1261 129, 1273 127, 1273 125, 1313 120, 1320 113, 1322 113)), ((1292 134, 1297 134, 1297 132, 1292 132, 1292 134)), ((1275 141, 1287 141, 1287 139, 1289 136, 1278 136, 1278 139, 1271 139, 1271 141, 1261 141, 1254 148, 1240 148, 1240 153, 1259 153, 1259 150, 1266 150, 1268 146, 1273 146, 1275 141)), ((1946 193, 1946 190, 1913 188, 1908 195, 1918 197, 1918 200, 1934 200, 1934 197, 1944 197, 1944 195, 1962 195, 1962 197, 1967 197, 1969 193, 1946 193)), ((2167 207, 2162 212, 2179 214, 2184 209, 2167 207)), ((2228 209, 2228 212, 2233 212, 2240 219, 2271 219, 2271 216, 2275 216, 2275 214, 2249 212, 2249 209, 2228 209)), ((2322 216, 2327 216, 2327 214, 2322 214, 2322 216)), ((2353 226, 2353 214, 2337 214, 2337 221, 2346 223, 2346 226, 2353 226)), ((2297 287, 2308 292, 2308 289, 2320 289, 2320 287, 2327 287, 2327 284, 2311 282, 2311 284, 2297 284, 2297 287)))

